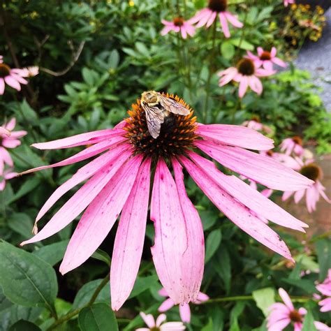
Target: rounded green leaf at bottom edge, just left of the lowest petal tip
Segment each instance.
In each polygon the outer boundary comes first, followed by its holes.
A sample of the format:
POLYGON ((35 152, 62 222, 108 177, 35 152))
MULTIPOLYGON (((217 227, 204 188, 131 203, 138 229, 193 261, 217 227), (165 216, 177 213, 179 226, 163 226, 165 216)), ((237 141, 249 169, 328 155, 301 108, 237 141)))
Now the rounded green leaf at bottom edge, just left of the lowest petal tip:
POLYGON ((86 307, 78 315, 78 323, 82 331, 118 331, 114 311, 108 304, 97 303, 86 307))

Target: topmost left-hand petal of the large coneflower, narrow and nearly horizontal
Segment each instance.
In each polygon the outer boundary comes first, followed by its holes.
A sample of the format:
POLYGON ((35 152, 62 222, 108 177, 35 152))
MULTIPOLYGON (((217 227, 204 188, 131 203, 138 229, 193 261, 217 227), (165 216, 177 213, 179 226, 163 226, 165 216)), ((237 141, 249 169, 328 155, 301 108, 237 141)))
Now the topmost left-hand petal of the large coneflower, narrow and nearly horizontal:
MULTIPOLYGON (((88 133, 80 133, 79 135, 73 135, 68 138, 53 140, 49 142, 38 142, 36 144, 32 144, 31 146, 36 147, 38 149, 59 149, 59 148, 68 148, 68 147, 76 147, 82 145, 89 145, 94 143, 96 138, 105 138, 105 136, 112 135, 121 135, 125 131, 122 129, 111 129, 106 128, 105 130, 99 131, 91 131, 88 133)), ((107 137, 108 138, 108 137, 107 137)))

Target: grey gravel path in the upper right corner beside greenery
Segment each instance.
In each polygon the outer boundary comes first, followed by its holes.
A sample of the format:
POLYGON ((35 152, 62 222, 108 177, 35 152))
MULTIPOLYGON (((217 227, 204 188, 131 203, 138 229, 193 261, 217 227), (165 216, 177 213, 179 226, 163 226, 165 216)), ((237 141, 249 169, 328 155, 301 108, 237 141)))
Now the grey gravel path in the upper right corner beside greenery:
POLYGON ((325 108, 331 112, 331 8, 325 13, 325 18, 322 38, 317 43, 306 43, 295 64, 309 71, 316 84, 323 88, 321 97, 325 108))

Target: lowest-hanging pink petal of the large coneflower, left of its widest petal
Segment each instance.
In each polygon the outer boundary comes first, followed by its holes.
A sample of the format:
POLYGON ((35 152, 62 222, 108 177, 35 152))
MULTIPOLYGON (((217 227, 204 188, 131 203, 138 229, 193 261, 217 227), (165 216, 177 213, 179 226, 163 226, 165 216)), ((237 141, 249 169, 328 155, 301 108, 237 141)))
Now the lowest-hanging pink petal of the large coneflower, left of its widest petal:
POLYGON ((112 309, 116 311, 130 295, 139 270, 147 222, 150 169, 151 159, 140 165, 117 228, 110 267, 110 296, 112 309))

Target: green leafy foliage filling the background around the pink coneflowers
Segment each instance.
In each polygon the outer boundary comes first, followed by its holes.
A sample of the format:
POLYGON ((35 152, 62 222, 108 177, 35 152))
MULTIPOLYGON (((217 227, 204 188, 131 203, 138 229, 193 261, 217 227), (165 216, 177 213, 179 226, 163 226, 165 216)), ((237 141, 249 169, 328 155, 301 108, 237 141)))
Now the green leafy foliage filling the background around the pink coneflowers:
MULTIPOLYGON (((10 150, 15 171, 54 163, 80 151, 75 147, 37 152, 29 145, 112 127, 147 89, 182 96, 200 122, 241 124, 258 116, 274 128, 277 143, 296 134, 313 141, 317 152, 330 152, 330 114, 308 73, 290 66, 263 80, 261 96, 249 91, 242 101, 236 84, 218 86, 216 72, 235 66, 247 50, 276 45, 285 51, 289 46, 278 20, 285 15, 282 1, 228 2, 245 29, 232 29, 226 40, 217 29, 213 43, 211 29, 199 29, 185 41, 173 33, 160 35, 161 19, 171 20, 179 10, 187 19, 205 6, 201 0, 0 1, 3 60, 12 67, 34 64, 41 70, 20 94, 6 88, 0 99, 1 122, 16 117, 15 130, 29 132, 20 147, 10 150)), ((94 330, 94 318, 112 323, 111 330, 117 323, 119 330, 134 330, 142 326, 138 311, 155 315, 161 304, 157 293, 161 284, 150 263, 151 222, 139 277, 117 321, 109 309, 109 284, 102 280, 109 272, 116 226, 92 258, 65 276, 58 272, 59 261, 78 219, 43 242, 24 250, 15 248, 31 237, 33 220, 47 197, 76 170, 78 165, 36 172, 11 180, 0 192, 4 240, 0 243, 0 330, 14 325, 13 330, 52 330, 61 318, 64 321, 56 330, 94 330), (29 290, 27 297, 22 288, 29 290), (87 306, 94 293, 93 304, 87 306), (68 314, 72 318, 65 319, 68 314)), ((279 231, 297 261, 293 265, 242 233, 191 179, 186 187, 203 221, 206 265, 201 290, 211 297, 191 307, 188 330, 266 330, 265 308, 279 300, 279 287, 304 297, 300 304, 316 321, 330 321, 330 313, 322 314, 311 299, 314 282, 323 281, 331 267, 330 258, 325 258, 331 254, 330 241, 316 235, 303 237, 307 242, 302 242, 302 236, 296 239, 293 233, 279 231)), ((60 199, 52 212, 63 202, 60 199)), ((167 316, 169 321, 179 321, 178 308, 167 316)))

